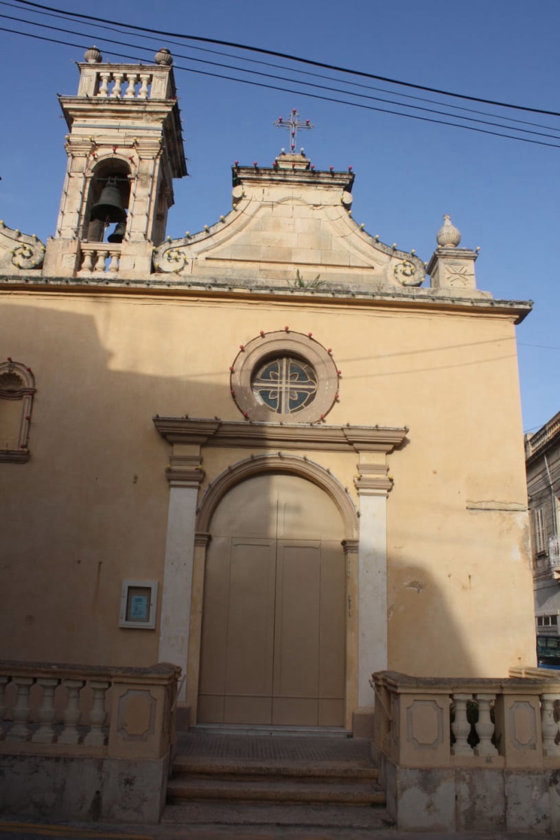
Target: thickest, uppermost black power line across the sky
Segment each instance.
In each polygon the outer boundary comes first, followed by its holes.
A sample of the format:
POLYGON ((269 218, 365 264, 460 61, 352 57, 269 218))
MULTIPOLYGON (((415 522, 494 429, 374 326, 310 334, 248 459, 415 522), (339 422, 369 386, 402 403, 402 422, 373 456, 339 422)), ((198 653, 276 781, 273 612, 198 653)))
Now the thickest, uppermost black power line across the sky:
POLYGON ((217 38, 203 38, 199 35, 187 35, 180 32, 168 32, 165 29, 151 29, 144 26, 137 26, 136 24, 125 24, 115 20, 108 20, 107 18, 99 18, 89 14, 81 14, 79 12, 67 12, 64 9, 55 8, 52 6, 44 6, 41 3, 31 3, 30 0, 17 0, 25 6, 32 6, 40 8, 48 12, 57 12, 61 14, 70 15, 72 18, 82 18, 85 20, 93 20, 96 23, 113 24, 119 29, 137 29, 139 32, 147 32, 149 34, 165 35, 169 38, 181 38, 186 40, 201 41, 204 44, 217 44, 221 46, 233 47, 237 50, 248 50, 249 52, 261 53, 262 55, 274 55, 276 58, 284 58, 290 61, 297 61, 301 64, 307 64, 314 67, 322 67, 324 70, 337 71, 339 73, 348 73, 352 76, 363 76, 368 79, 376 79, 377 81, 386 81, 392 85, 400 85, 402 87, 412 87, 416 90, 427 91, 430 93, 439 93, 442 96, 454 97, 457 99, 467 99, 469 102, 481 102, 484 105, 495 105, 499 108, 512 108, 516 111, 528 111, 531 113, 543 113, 551 117, 560 117, 557 111, 547 111, 542 108, 531 108, 528 105, 515 105, 510 102, 500 102, 495 99, 484 99, 482 97, 472 97, 464 93, 454 93, 451 91, 444 91, 437 87, 427 87, 426 85, 417 85, 411 81, 400 81, 399 79, 391 79, 388 76, 377 76, 374 73, 367 73, 365 71, 353 70, 349 67, 339 67, 337 65, 327 64, 322 61, 314 61, 311 59, 301 58, 297 55, 290 55, 289 53, 276 52, 275 50, 264 50, 262 47, 253 47, 246 44, 239 44, 236 41, 223 41, 217 38))

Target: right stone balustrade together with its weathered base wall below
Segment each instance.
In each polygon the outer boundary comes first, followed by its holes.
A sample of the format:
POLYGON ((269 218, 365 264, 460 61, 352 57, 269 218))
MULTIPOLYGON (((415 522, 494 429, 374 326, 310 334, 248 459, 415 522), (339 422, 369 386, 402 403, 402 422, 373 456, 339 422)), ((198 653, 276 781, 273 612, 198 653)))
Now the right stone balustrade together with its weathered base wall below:
POLYGON ((560 834, 560 672, 373 675, 374 759, 405 831, 560 834))

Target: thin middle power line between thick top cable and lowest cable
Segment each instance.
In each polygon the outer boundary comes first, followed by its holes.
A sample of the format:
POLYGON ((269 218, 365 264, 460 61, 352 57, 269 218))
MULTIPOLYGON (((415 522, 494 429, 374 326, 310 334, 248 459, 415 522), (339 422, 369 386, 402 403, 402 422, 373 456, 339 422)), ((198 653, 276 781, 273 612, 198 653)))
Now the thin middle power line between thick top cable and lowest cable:
MULTIPOLYGON (((6 18, 8 20, 17 20, 18 19, 18 18, 14 18, 12 15, 1 14, 1 13, 0 13, 0 18, 6 18)), ((58 26, 51 26, 50 24, 39 24, 39 23, 34 23, 32 21, 26 21, 26 23, 29 23, 31 26, 39 27, 39 29, 54 29, 56 32, 62 32, 64 34, 78 35, 78 37, 81 36, 81 33, 76 32, 75 29, 61 29, 58 26)), ((118 40, 115 40, 113 38, 107 38, 104 35, 101 36, 101 40, 105 41, 107 44, 113 44, 113 45, 116 44, 120 47, 124 46, 124 47, 133 47, 133 49, 148 50, 148 47, 144 47, 142 45, 124 43, 123 41, 118 41, 118 40)), ((242 72, 242 73, 249 73, 253 76, 261 76, 261 77, 264 77, 266 79, 275 79, 275 81, 289 81, 292 84, 296 83, 296 84, 302 85, 304 87, 315 87, 316 89, 319 89, 319 90, 328 91, 328 92, 332 92, 332 93, 343 93, 343 94, 346 94, 346 95, 349 95, 349 96, 359 97, 360 99, 369 99, 369 100, 372 100, 374 102, 386 102, 387 104, 396 105, 400 108, 404 107, 402 102, 395 102, 394 99, 384 99, 383 97, 374 97, 374 96, 371 96, 371 95, 366 94, 366 93, 356 93, 356 92, 342 91, 338 87, 331 87, 329 85, 319 85, 319 84, 317 84, 317 82, 299 81, 299 80, 296 80, 296 79, 288 78, 286 76, 278 76, 277 74, 273 75, 271 73, 265 73, 264 71, 246 70, 243 67, 224 64, 223 62, 220 62, 220 61, 210 61, 210 60, 207 60, 207 59, 192 58, 190 55, 181 55, 181 54, 176 54, 175 58, 185 59, 187 61, 196 61, 197 63, 207 64, 207 65, 214 66, 214 67, 222 67, 225 70, 233 70, 233 71, 238 71, 238 72, 242 72)), ((182 69, 186 69, 186 68, 182 68, 182 69)), ((479 118, 476 118, 476 117, 467 117, 467 116, 464 116, 464 115, 461 115, 460 117, 456 117, 454 114, 449 114, 449 113, 447 113, 447 111, 441 111, 437 108, 426 108, 425 106, 421 106, 421 105, 409 105, 408 108, 412 108, 415 111, 424 111, 426 113, 435 113, 435 114, 438 114, 438 115, 444 116, 444 117, 448 116, 448 117, 452 117, 452 118, 456 118, 456 119, 460 118, 460 119, 463 119, 463 120, 467 120, 469 123, 480 123, 482 125, 491 125, 491 126, 493 126, 495 128, 498 128, 498 129, 514 130, 514 131, 520 132, 521 134, 531 134, 531 135, 536 135, 537 137, 547 137, 548 139, 560 140, 560 136, 558 136, 557 134, 546 134, 542 131, 536 131, 536 130, 531 130, 531 129, 511 128, 510 126, 505 126, 502 123, 494 123, 491 120, 484 120, 484 119, 479 119, 479 118)), ((411 115, 409 115, 409 116, 411 116, 411 115)), ((467 128, 467 127, 463 126, 463 128, 467 128)))

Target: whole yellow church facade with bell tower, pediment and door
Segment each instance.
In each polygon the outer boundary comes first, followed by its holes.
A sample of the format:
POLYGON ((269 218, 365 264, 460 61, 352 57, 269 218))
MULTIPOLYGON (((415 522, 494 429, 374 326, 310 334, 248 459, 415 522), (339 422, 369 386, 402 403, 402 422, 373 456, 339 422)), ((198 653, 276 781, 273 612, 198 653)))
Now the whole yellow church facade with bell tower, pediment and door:
POLYGON ((379 242, 293 149, 166 239, 169 53, 79 70, 55 237, 0 226, 3 659, 168 662, 191 723, 359 734, 374 671, 533 664, 530 304, 448 217, 428 264, 379 242))

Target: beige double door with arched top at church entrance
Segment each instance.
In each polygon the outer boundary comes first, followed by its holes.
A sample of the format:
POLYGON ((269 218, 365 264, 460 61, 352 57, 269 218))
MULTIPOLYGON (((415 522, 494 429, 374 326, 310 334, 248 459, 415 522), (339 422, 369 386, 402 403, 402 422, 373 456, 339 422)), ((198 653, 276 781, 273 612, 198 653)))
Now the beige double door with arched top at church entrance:
POLYGON ((296 475, 259 475, 212 517, 199 722, 343 726, 342 521, 296 475))

